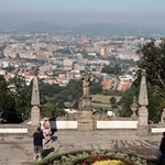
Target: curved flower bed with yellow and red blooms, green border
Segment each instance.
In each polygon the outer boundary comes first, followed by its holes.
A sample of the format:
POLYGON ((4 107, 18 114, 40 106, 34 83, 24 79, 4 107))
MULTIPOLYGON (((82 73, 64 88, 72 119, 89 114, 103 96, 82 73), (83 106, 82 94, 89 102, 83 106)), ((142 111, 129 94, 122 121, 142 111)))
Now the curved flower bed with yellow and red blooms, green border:
POLYGON ((56 154, 35 165, 156 165, 156 163, 122 151, 95 150, 56 154))

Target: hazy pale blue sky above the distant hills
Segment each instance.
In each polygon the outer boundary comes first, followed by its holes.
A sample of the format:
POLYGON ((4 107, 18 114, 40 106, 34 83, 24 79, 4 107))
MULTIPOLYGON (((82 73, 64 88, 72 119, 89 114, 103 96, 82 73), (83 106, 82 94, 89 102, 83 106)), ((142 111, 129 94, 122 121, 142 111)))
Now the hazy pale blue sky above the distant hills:
POLYGON ((165 28, 165 0, 0 0, 0 14, 61 25, 101 22, 165 28))

